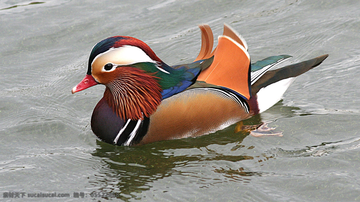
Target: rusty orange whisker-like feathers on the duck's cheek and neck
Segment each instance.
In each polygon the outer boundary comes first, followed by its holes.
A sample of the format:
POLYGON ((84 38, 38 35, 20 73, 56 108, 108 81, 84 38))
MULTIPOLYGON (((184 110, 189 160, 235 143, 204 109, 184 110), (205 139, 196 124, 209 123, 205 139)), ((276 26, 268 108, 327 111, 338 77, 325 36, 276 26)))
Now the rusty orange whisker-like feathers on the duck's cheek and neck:
POLYGON ((123 120, 150 116, 160 104, 162 96, 157 77, 133 67, 119 67, 109 72, 104 97, 109 106, 123 120))

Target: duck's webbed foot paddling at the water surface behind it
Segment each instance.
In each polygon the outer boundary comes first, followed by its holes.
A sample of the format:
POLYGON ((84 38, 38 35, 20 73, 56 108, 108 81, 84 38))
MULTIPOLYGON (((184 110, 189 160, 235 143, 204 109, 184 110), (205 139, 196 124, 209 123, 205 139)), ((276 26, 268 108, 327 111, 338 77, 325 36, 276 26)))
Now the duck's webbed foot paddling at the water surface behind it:
POLYGON ((241 121, 241 122, 237 123, 237 125, 235 127, 235 132, 237 133, 237 132, 240 132, 241 130, 249 132, 250 135, 254 136, 254 137, 264 137, 264 136, 282 137, 283 136, 283 132, 273 133, 275 128, 268 127, 267 123, 261 123, 258 125, 244 125, 241 121))

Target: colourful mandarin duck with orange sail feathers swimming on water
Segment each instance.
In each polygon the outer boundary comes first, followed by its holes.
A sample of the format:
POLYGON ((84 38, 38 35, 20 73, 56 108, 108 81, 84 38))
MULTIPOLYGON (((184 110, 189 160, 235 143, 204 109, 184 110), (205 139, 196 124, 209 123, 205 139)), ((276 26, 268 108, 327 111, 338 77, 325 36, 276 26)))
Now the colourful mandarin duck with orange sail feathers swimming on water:
POLYGON ((328 56, 270 70, 292 56, 251 64, 247 43, 233 28, 224 24, 214 50, 211 28, 199 28, 201 50, 190 64, 169 66, 133 37, 96 43, 86 76, 72 93, 105 85, 91 116, 97 137, 137 146, 214 133, 269 109, 298 75, 328 56))

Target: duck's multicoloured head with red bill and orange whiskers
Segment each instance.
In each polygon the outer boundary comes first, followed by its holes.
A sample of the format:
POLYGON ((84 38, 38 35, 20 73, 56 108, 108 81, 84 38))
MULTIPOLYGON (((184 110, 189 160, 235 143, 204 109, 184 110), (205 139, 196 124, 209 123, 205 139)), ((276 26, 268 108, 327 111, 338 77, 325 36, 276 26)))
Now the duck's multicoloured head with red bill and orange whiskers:
POLYGON ((86 76, 72 93, 103 84, 105 100, 121 119, 143 119, 162 100, 159 80, 162 74, 169 74, 167 67, 143 41, 109 37, 91 50, 86 76))

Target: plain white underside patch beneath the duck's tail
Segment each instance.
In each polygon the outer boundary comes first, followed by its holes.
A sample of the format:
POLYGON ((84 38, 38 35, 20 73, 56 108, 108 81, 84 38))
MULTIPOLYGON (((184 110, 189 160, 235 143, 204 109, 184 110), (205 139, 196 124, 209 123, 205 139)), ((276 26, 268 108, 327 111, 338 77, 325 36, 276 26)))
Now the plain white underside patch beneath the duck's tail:
POLYGON ((259 113, 269 109, 278 102, 284 95, 286 89, 295 80, 295 77, 283 79, 276 83, 261 88, 257 95, 257 103, 259 105, 259 113))

